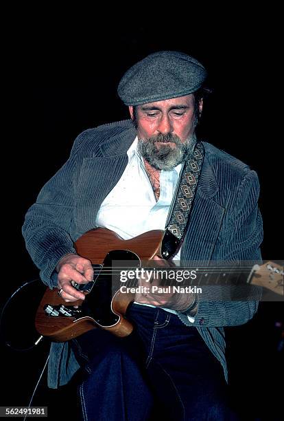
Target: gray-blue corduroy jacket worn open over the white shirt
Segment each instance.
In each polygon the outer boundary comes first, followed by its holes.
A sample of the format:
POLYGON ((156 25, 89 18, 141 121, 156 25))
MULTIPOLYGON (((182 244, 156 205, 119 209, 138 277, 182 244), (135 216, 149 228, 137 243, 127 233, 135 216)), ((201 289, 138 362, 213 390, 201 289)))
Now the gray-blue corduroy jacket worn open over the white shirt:
MULTIPOLYGON (((73 242, 95 227, 97 211, 121 177, 126 152, 137 136, 130 120, 88 129, 76 138, 69 160, 45 184, 23 225, 26 247, 44 283, 57 285, 58 260, 75 252, 73 242)), ((202 173, 194 199, 181 261, 259 261, 263 238, 255 171, 203 142, 202 173)), ((203 295, 203 294, 202 294, 203 295)), ((194 326, 216 356, 227 378, 224 326, 241 325, 257 311, 259 292, 250 301, 206 301, 194 326)), ((49 387, 66 384, 79 365, 69 343, 52 343, 49 387)))

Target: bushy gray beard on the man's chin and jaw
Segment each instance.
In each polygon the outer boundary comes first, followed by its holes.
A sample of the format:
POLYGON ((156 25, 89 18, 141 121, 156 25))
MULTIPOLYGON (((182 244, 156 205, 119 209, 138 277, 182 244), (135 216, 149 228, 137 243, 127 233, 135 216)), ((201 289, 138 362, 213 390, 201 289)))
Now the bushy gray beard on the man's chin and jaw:
POLYGON ((169 171, 189 158, 196 146, 196 134, 189 136, 185 142, 172 133, 147 139, 139 139, 137 149, 150 165, 158 170, 169 171), (176 147, 161 144, 159 149, 156 142, 173 142, 176 147))

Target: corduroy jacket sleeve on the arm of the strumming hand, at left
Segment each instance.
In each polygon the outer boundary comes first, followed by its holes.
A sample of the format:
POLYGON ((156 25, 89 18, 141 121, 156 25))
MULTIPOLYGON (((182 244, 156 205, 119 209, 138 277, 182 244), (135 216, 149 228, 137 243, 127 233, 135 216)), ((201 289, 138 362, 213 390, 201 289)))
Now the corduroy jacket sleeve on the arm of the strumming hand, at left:
POLYGON ((75 252, 68 232, 73 218, 73 180, 81 140, 80 135, 73 144, 69 160, 43 186, 36 203, 27 211, 23 224, 27 251, 40 269, 40 278, 49 288, 57 285, 55 268, 60 258, 75 252))

